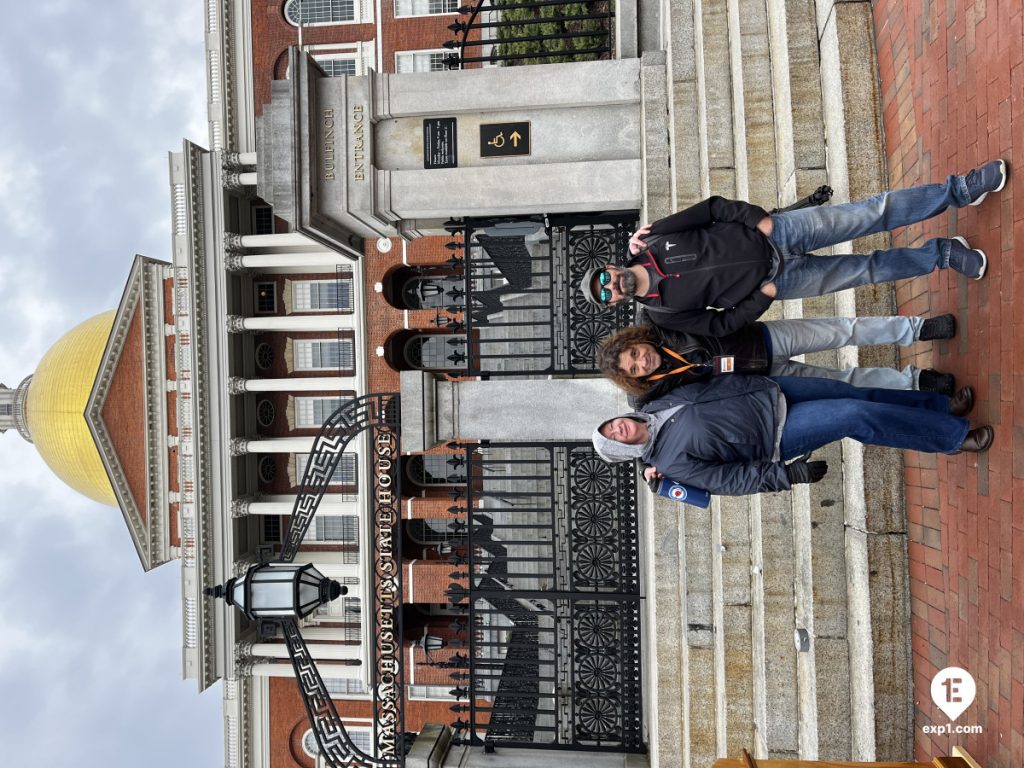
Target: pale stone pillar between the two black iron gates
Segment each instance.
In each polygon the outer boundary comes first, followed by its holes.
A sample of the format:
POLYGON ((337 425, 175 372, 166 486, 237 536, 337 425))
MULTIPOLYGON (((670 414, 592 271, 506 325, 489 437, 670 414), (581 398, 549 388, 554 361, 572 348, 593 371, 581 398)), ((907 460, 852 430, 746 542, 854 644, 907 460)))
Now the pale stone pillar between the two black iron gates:
POLYGON ((442 381, 401 374, 401 447, 449 440, 590 440, 594 428, 633 409, 606 379, 442 381))

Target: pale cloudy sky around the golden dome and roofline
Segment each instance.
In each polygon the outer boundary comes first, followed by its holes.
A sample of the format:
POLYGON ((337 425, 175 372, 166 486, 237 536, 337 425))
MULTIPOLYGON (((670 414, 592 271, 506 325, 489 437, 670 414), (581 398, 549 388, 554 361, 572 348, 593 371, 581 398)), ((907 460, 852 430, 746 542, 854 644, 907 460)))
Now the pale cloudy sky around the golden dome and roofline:
MULTIPOLYGON (((0 26, 0 381, 170 259, 167 152, 208 144, 202 0, 8 3, 0 26)), ((7 765, 223 764, 220 686, 181 680, 180 571, 0 435, 7 765)))

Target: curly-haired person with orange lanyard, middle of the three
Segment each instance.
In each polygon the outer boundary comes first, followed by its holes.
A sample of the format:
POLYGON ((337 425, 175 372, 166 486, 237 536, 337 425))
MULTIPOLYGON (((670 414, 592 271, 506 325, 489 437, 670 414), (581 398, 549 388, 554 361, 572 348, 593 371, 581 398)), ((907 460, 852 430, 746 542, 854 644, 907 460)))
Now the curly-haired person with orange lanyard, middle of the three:
MULTIPOLYGON (((791 357, 848 344, 902 344, 951 339, 951 314, 925 319, 815 317, 755 323, 727 336, 700 336, 656 326, 631 326, 607 337, 597 352, 598 369, 643 403, 683 384, 721 374, 811 376, 858 387, 921 389, 953 395, 952 374, 908 366, 837 370, 797 362, 791 357)), ((962 396, 963 392, 957 396, 962 396)))

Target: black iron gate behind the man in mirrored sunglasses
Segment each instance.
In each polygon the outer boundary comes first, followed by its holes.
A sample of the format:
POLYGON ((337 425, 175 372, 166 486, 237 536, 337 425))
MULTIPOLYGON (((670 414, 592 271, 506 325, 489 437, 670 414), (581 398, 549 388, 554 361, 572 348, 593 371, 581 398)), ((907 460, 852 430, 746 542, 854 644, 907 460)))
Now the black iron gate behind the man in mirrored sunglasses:
POLYGON ((473 376, 592 374, 605 336, 633 309, 598 308, 580 294, 583 273, 629 257, 634 211, 594 215, 467 219, 450 263, 464 286, 450 290, 437 325, 456 331, 446 359, 473 376))

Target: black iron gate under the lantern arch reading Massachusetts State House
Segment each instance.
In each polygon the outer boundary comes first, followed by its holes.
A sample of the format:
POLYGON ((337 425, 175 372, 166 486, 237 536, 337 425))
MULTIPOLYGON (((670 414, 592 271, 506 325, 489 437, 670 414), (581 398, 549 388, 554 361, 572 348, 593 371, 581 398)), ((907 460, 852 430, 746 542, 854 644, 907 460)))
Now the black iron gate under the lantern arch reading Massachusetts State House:
POLYGON ((586 443, 470 445, 466 467, 457 737, 643 752, 632 467, 586 443))

